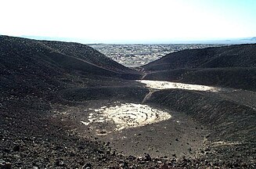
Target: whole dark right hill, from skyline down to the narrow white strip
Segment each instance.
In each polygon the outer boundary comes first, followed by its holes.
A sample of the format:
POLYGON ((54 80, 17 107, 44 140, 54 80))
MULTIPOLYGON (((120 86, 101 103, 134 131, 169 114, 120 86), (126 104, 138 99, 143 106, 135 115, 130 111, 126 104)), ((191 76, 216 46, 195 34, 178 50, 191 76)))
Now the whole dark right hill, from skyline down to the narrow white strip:
POLYGON ((144 79, 256 90, 256 45, 184 50, 142 68, 144 79))

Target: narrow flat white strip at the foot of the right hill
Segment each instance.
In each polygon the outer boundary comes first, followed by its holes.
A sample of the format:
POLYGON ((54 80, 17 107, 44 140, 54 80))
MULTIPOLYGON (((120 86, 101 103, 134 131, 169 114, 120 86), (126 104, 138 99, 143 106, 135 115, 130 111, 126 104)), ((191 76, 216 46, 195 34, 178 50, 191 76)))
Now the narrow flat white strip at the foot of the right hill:
POLYGON ((184 90, 196 90, 196 91, 209 91, 209 92, 218 92, 221 91, 221 88, 215 88, 206 85, 190 85, 190 84, 182 84, 175 83, 170 81, 150 81, 150 80, 137 80, 142 84, 145 84, 147 88, 153 89, 168 89, 168 88, 179 88, 184 90))

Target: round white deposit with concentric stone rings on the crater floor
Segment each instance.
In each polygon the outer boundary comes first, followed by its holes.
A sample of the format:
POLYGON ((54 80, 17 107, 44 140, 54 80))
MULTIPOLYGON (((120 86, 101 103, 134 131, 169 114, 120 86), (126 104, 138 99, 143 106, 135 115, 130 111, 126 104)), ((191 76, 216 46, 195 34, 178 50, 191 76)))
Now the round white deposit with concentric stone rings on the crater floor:
POLYGON ((110 107, 103 106, 94 111, 95 113, 90 113, 88 116, 88 122, 81 121, 81 123, 88 125, 108 122, 116 126, 115 131, 121 131, 124 128, 142 127, 146 124, 153 124, 171 118, 171 115, 167 112, 135 103, 121 103, 110 107))

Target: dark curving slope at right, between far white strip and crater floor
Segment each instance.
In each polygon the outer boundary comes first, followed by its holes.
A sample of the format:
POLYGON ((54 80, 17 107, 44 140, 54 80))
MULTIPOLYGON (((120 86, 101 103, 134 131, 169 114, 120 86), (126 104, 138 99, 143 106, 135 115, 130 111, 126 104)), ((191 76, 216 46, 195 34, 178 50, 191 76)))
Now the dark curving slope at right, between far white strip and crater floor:
MULTIPOLYGON (((207 92, 180 89, 154 92, 148 102, 185 112, 189 117, 207 126, 211 130, 211 135, 206 135, 205 138, 211 143, 201 152, 211 160, 222 158, 243 160, 248 163, 256 160, 253 155, 256 150, 256 109, 253 107, 212 97, 207 92)), ((175 140, 178 141, 178 138, 175 140)))

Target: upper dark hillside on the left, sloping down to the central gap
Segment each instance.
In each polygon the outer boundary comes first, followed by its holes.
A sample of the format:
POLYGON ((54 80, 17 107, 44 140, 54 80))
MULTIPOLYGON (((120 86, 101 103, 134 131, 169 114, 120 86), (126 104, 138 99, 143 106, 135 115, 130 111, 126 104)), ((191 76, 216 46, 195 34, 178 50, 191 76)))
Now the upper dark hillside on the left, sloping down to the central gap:
MULTIPOLYGON (((1 59, 15 57, 38 59, 41 63, 50 63, 53 67, 67 70, 78 70, 83 73, 110 77, 121 77, 121 74, 137 74, 119 63, 107 58, 102 53, 72 42, 36 41, 26 38, 1 36, 1 59)), ((23 60, 23 62, 27 62, 23 60)), ((4 63, 2 63, 4 65, 4 63)))

